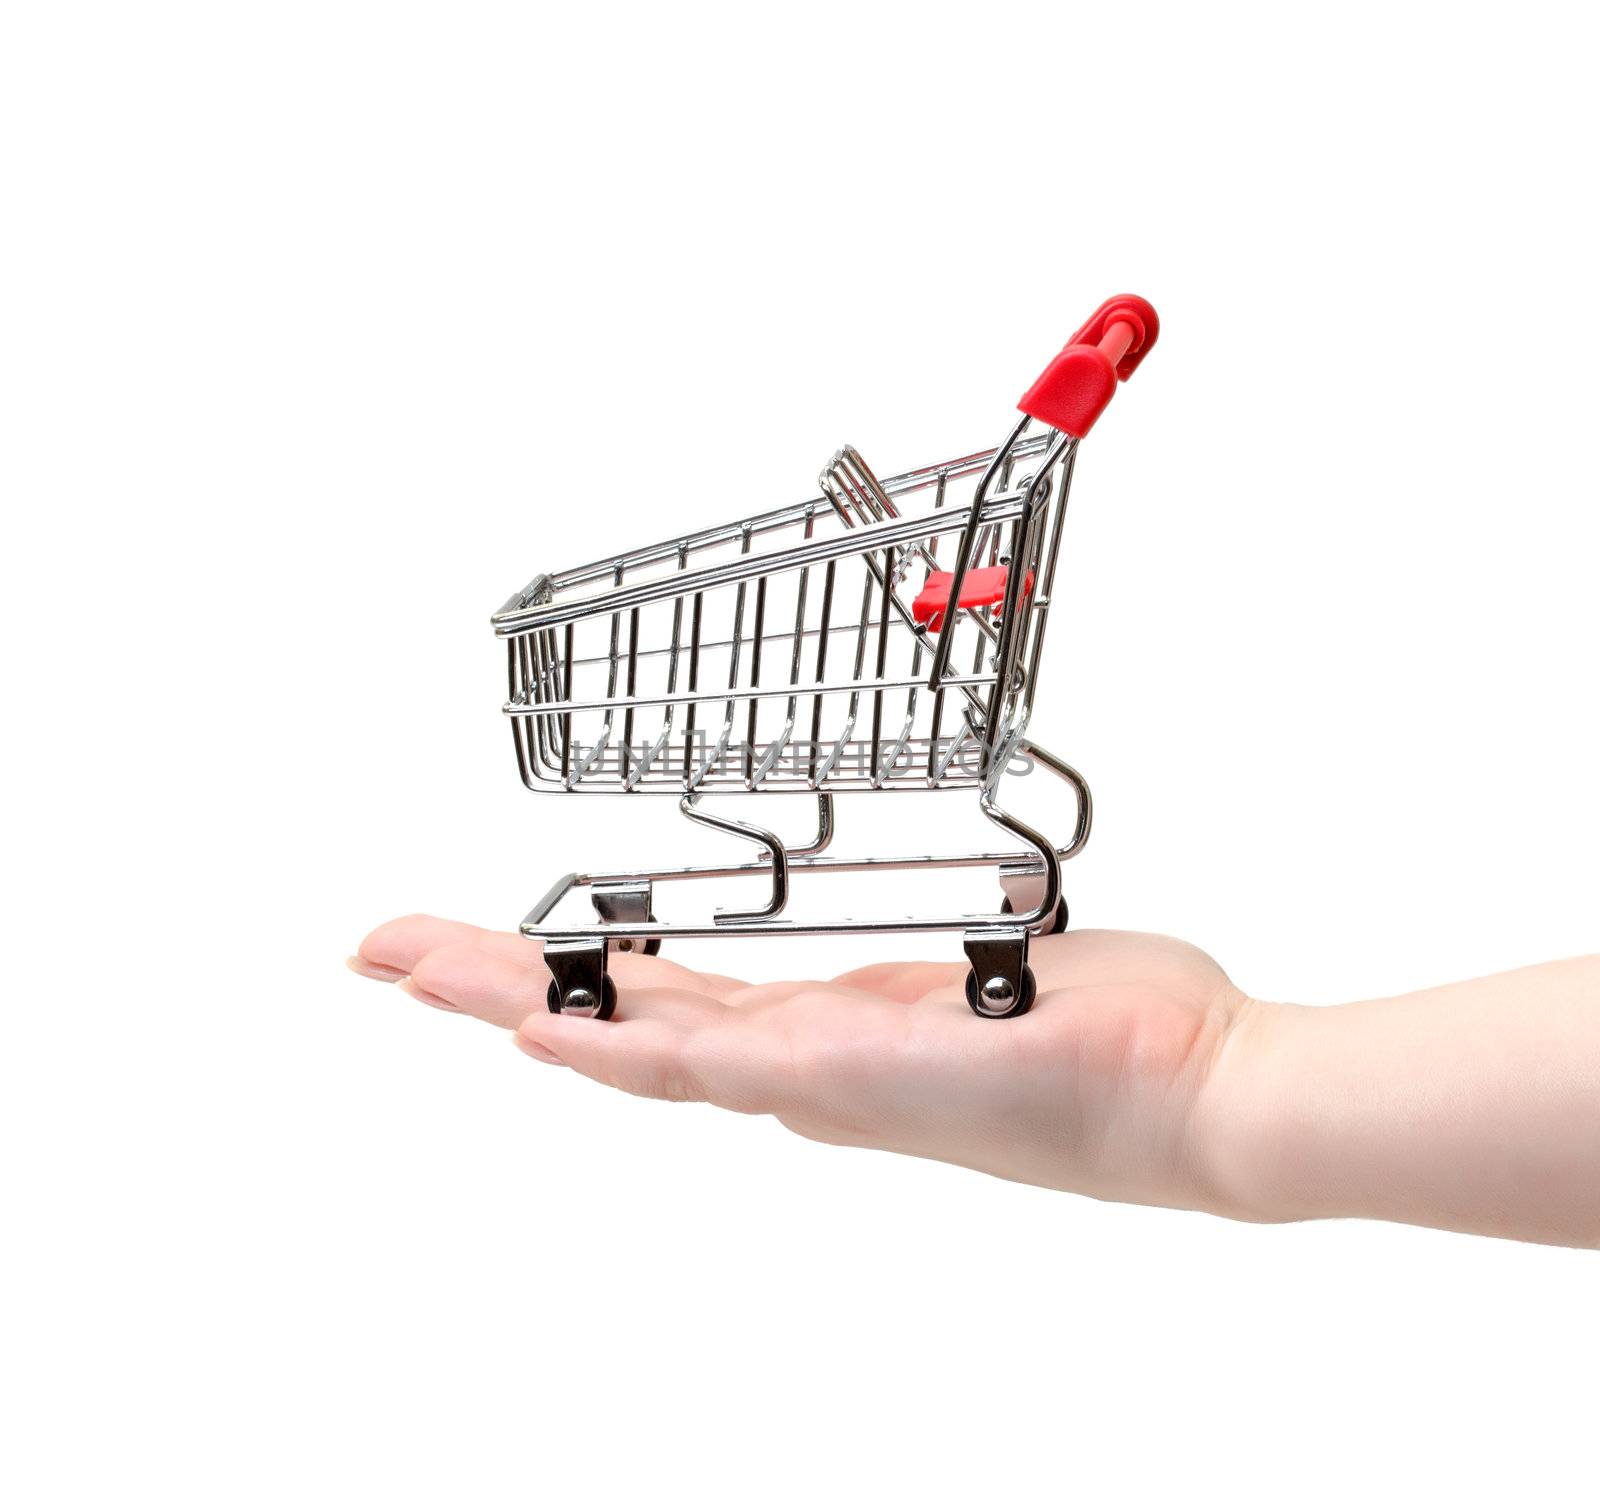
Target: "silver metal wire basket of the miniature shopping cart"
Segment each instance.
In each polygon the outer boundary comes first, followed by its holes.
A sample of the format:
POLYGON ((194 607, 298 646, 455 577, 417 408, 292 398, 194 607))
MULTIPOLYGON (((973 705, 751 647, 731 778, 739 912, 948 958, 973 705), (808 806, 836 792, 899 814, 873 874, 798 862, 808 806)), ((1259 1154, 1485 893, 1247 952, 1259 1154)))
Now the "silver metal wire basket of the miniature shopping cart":
POLYGON ((523 781, 984 784, 1026 725, 1070 478, 1070 446, 1026 427, 885 482, 843 450, 824 496, 534 578, 494 616, 523 781), (963 560, 1032 586, 918 621, 918 587, 963 560))

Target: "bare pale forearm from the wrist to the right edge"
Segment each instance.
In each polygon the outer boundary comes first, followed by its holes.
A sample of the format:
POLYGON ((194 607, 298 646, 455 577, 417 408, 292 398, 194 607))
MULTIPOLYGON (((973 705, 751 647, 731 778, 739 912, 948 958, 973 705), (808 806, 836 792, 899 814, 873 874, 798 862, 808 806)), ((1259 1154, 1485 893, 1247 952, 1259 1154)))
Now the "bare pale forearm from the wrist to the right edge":
POLYGON ((1226 1211, 1600 1245, 1600 957, 1246 1006, 1202 1091, 1226 1211))

